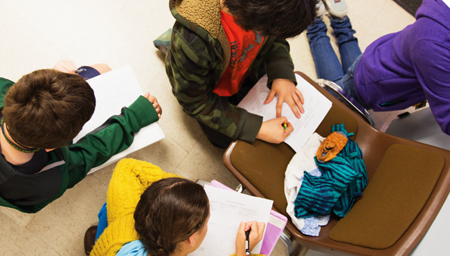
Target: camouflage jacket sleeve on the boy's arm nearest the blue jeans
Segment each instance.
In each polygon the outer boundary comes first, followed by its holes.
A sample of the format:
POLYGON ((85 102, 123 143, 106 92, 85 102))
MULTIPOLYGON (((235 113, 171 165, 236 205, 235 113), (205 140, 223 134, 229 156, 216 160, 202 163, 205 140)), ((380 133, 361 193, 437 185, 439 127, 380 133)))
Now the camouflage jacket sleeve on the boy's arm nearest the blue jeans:
POLYGON ((289 43, 285 39, 276 38, 271 44, 271 48, 264 56, 264 62, 267 63, 267 86, 271 89, 273 80, 283 78, 291 80, 297 84, 294 73, 294 62, 289 54, 289 43))

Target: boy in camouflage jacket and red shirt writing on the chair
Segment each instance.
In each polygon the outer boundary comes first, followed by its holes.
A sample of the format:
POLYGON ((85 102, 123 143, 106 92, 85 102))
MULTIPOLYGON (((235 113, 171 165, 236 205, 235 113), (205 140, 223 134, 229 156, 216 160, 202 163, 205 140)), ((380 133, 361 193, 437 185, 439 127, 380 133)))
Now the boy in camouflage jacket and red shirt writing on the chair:
POLYGON ((165 57, 172 92, 209 140, 228 147, 233 139, 281 143, 294 128, 281 117, 283 102, 300 118, 303 95, 296 89, 288 37, 316 17, 317 0, 170 0, 177 21, 165 57), (277 118, 262 122, 236 104, 267 73, 278 95, 277 118), (287 123, 285 134, 282 124, 287 123))

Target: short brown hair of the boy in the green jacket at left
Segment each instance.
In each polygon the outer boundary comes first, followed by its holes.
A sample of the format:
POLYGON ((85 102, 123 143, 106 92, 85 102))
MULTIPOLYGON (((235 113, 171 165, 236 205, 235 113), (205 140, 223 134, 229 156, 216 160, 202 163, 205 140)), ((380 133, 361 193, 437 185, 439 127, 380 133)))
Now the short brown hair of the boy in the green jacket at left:
POLYGON ((80 75, 41 69, 11 86, 3 119, 20 145, 53 149, 75 138, 95 108, 93 90, 80 75))

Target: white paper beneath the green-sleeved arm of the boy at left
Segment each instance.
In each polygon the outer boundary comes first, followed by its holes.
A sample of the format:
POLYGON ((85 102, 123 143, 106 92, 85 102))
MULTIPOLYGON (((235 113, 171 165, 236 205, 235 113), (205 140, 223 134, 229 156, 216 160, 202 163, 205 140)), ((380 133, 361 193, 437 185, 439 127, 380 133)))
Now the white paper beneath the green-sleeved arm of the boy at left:
MULTIPOLYGON (((73 139, 74 143, 102 125, 111 116, 119 115, 123 107, 128 107, 139 95, 143 95, 141 86, 139 86, 136 75, 134 75, 132 66, 130 65, 98 75, 87 80, 87 82, 91 85, 96 95, 96 110, 91 119, 84 124, 80 134, 73 139)), ((114 163, 120 158, 127 156, 127 154, 155 143, 162 138, 165 138, 163 130, 157 122, 154 122, 141 129, 137 134, 134 134, 133 143, 129 148, 112 156, 106 163, 92 168, 88 174, 114 163)), ((114 140, 114 138, 111 138, 111 140, 114 140)))

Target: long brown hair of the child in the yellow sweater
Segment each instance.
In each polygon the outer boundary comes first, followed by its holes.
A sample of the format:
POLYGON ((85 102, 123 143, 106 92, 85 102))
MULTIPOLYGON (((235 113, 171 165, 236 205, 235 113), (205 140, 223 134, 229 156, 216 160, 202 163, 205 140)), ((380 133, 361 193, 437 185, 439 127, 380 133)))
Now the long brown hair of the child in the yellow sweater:
POLYGON ((201 185, 181 178, 156 181, 143 192, 134 228, 153 255, 168 256, 206 225, 209 201, 201 185))

